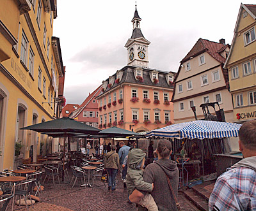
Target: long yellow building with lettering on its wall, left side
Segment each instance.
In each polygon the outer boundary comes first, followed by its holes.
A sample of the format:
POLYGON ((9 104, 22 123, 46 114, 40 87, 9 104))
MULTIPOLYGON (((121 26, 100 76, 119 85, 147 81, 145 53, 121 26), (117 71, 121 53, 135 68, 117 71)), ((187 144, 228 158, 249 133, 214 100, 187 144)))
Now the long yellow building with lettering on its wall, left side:
POLYGON ((18 157, 36 161, 47 136, 20 128, 60 115, 64 68, 60 40, 52 37, 56 17, 54 0, 0 1, 0 170, 15 168, 18 157))

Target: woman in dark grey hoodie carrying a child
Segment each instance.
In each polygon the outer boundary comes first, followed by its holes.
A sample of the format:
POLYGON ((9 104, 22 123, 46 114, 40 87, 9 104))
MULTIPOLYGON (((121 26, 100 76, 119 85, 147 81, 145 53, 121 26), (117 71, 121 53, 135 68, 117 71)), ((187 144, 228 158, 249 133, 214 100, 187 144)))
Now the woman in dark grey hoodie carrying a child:
MULTIPOLYGON (((154 184, 154 189, 151 194, 156 201, 159 211, 177 210, 175 198, 177 198, 178 194, 179 170, 177 163, 169 159, 172 154, 172 144, 166 139, 160 140, 157 143, 156 152, 158 160, 155 163, 148 164, 145 168, 143 173, 144 181, 154 184), (170 180, 175 196, 172 194, 166 176, 170 180)), ((129 200, 134 203, 139 203, 146 194, 147 192, 135 189, 129 196, 129 200)), ((138 210, 145 210, 145 208, 139 205, 138 210)))

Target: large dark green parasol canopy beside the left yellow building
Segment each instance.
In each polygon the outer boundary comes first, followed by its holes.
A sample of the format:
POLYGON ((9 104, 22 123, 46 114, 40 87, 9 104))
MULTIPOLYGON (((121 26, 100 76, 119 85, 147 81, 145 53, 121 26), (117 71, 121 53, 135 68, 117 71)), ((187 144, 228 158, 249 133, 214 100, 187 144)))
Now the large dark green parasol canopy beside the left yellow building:
MULTIPOLYGON (((83 133, 90 135, 98 135, 100 129, 88 126, 81 122, 77 122, 74 119, 63 117, 61 119, 54 119, 39 124, 33 124, 28 127, 22 127, 20 129, 30 129, 38 133, 83 133)), ((68 136, 68 135, 67 135, 68 136)))

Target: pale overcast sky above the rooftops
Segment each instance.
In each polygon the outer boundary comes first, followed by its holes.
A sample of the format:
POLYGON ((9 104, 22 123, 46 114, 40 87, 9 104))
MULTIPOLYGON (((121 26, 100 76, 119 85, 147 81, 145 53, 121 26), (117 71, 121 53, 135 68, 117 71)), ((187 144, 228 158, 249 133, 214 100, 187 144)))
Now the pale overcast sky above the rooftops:
MULTIPOLYGON (((246 0, 244 4, 256 4, 246 0)), ((151 42, 149 67, 177 72, 199 38, 232 43, 241 0, 137 0, 141 31, 151 42)), ((81 104, 101 83, 127 65, 135 1, 59 0, 54 36, 66 66, 67 103, 81 104)))

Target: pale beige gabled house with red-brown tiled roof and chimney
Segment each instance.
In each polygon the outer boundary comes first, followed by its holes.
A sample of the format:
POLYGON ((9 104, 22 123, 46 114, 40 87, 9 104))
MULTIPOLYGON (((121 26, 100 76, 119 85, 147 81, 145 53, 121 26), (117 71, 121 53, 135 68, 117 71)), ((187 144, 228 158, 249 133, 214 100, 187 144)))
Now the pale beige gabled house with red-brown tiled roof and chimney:
MULTIPOLYGON (((225 120, 232 121, 232 98, 228 91, 228 73, 223 68, 230 46, 225 40, 220 43, 199 39, 189 53, 180 61, 175 76, 175 88, 172 98, 174 122, 195 120, 191 107, 196 107, 198 119, 204 119, 200 105, 218 102, 224 110, 225 120)), ((219 110, 218 106, 215 106, 219 110)), ((215 115, 214 108, 209 112, 215 115)))

